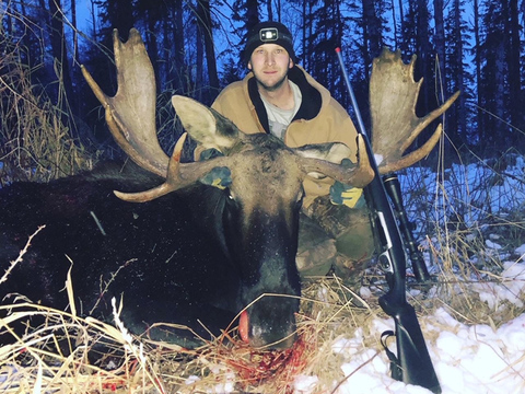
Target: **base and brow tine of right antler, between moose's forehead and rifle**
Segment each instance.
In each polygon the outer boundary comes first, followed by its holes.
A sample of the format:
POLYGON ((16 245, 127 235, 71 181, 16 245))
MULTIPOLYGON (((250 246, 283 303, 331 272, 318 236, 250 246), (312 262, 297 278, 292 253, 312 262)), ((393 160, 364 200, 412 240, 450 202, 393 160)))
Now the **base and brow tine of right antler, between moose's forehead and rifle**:
POLYGON ((366 147, 364 139, 358 135, 358 163, 343 165, 331 163, 326 160, 313 158, 300 158, 301 165, 306 173, 320 173, 329 176, 335 181, 353 187, 364 187, 374 178, 374 171, 370 165, 369 155, 366 154, 366 147))

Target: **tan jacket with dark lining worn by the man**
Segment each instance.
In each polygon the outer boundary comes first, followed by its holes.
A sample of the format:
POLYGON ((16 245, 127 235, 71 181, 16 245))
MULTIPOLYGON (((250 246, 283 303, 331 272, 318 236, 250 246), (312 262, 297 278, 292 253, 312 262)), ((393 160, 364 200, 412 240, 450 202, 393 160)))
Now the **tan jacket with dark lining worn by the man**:
MULTIPOLYGON (((303 102, 285 131, 284 143, 296 148, 310 143, 343 142, 351 148, 350 159, 355 161, 357 131, 345 108, 300 66, 289 71, 289 79, 301 89, 303 102)), ((269 132, 266 109, 252 72, 244 80, 224 88, 212 108, 246 134, 269 132)), ((306 178, 304 206, 307 207, 318 196, 327 195, 332 183, 330 178, 306 178)))

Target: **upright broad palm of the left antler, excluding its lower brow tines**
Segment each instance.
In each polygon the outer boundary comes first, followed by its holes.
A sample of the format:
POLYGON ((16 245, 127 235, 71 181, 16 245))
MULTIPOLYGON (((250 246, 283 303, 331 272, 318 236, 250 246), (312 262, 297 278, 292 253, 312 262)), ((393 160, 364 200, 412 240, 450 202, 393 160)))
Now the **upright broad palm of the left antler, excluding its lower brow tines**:
POLYGON ((126 43, 113 32, 118 89, 107 96, 82 67, 96 99, 105 107, 106 121, 120 148, 141 167, 166 177, 170 158, 161 148, 155 127, 155 77, 144 43, 136 28, 126 43))

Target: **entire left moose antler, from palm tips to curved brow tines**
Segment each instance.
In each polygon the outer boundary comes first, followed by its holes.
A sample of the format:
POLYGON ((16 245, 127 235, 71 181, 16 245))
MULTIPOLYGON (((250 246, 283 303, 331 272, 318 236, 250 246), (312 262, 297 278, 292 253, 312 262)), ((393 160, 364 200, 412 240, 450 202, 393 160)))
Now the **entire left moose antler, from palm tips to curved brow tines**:
POLYGON ((149 201, 191 185, 214 166, 224 165, 224 158, 180 163, 186 136, 177 141, 172 157, 167 157, 156 136, 155 77, 144 43, 136 28, 130 30, 126 43, 118 38, 118 31, 114 30, 113 45, 118 82, 115 96, 107 96, 83 66, 82 73, 105 107, 106 121, 116 142, 141 167, 166 179, 147 192, 115 192, 117 197, 132 202, 149 201))

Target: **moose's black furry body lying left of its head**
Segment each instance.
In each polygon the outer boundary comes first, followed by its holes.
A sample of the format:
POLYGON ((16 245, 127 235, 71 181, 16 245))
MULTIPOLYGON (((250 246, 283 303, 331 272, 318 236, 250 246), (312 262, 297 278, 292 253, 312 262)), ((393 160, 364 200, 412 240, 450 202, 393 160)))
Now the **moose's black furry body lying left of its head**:
MULTIPOLYGON (((114 189, 154 186, 154 175, 105 170, 49 184, 16 183, 0 190, 1 267, 33 239, 27 253, 0 285, 3 303, 20 293, 66 310, 68 270, 77 310, 113 320, 112 298, 122 298, 122 320, 135 334, 159 322, 187 325, 208 338, 240 311, 240 277, 221 240, 221 190, 198 185, 159 199, 131 204, 114 189)), ((3 270, 2 270, 3 271, 3 270)), ((189 332, 151 331, 158 340, 192 346, 189 332)))

